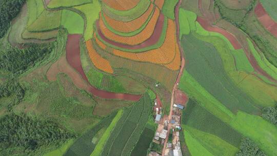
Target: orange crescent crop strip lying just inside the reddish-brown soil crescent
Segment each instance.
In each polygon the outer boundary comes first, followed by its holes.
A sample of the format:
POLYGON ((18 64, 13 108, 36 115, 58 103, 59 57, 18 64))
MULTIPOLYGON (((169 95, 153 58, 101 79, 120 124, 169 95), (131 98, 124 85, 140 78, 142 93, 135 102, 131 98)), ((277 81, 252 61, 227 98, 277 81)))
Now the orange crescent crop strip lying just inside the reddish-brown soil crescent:
POLYGON ((156 8, 147 26, 140 33, 133 36, 125 37, 125 36, 120 36, 113 33, 105 26, 104 22, 102 21, 102 17, 100 17, 100 20, 99 20, 99 29, 105 35, 105 37, 107 37, 111 41, 134 46, 134 45, 143 43, 149 37, 151 37, 159 17, 160 17, 160 9, 156 8))

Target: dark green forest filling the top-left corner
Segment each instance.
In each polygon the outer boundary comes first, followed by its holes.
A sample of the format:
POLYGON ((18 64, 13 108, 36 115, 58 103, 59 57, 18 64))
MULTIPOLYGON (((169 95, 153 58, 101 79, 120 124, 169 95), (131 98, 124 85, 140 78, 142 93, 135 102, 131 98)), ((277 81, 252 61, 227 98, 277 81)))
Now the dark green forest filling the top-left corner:
POLYGON ((6 34, 12 18, 16 17, 25 1, 26 0, 0 1, 0 38, 6 34))

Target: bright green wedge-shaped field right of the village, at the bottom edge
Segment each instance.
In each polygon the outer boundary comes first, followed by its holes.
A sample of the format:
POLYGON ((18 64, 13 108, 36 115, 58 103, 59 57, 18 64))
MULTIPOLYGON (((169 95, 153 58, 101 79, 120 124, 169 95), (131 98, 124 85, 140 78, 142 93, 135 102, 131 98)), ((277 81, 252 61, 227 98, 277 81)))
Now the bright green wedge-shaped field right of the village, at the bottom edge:
MULTIPOLYGON (((208 150, 213 155, 233 156, 235 155, 236 152, 239 151, 238 148, 232 146, 231 144, 222 140, 218 136, 197 130, 187 125, 182 125, 182 128, 185 129, 188 133, 190 133, 190 136, 192 136, 195 142, 198 142, 199 144, 201 144, 203 148, 206 148, 206 150, 208 150)), ((190 144, 189 142, 191 140, 187 140, 186 134, 185 134, 185 140, 187 144, 190 144)))

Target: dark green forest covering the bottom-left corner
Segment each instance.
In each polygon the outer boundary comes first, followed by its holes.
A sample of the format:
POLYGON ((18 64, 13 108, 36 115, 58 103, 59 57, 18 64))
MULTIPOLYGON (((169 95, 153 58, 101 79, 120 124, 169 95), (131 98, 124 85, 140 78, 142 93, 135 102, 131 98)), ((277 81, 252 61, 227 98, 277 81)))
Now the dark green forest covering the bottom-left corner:
POLYGON ((12 152, 10 149, 15 147, 29 153, 44 145, 60 144, 73 137, 50 121, 10 114, 0 120, 0 155, 8 155, 8 152, 12 152))

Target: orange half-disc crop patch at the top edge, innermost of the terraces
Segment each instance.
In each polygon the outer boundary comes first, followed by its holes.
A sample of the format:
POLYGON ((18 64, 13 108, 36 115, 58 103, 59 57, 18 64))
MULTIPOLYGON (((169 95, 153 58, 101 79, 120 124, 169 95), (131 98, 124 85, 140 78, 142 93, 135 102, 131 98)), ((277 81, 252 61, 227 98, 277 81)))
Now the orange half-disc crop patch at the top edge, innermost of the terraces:
POLYGON ((102 0, 106 5, 109 7, 116 9, 116 10, 121 10, 121 11, 126 11, 134 8, 140 0, 102 0))

